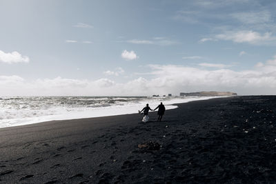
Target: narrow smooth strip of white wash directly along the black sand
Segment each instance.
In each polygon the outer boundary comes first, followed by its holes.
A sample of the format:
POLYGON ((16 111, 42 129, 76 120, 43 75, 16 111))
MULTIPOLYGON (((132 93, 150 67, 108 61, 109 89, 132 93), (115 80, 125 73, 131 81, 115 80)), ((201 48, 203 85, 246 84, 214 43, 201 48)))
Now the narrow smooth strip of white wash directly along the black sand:
MULTIPOLYGON (((189 101, 200 101, 206 99, 214 99, 221 98, 224 96, 201 96, 201 97, 189 97, 189 98, 172 98, 170 101, 164 101, 168 110, 177 108, 178 103, 188 103, 189 101)), ((162 101, 162 99, 159 99, 162 101)), ((149 101, 151 105, 159 105, 159 101, 149 101)), ((135 114, 138 110, 146 105, 146 101, 140 101, 135 104, 127 104, 127 105, 110 105, 107 107, 99 107, 99 108, 81 108, 80 110, 68 111, 66 114, 52 114, 48 116, 33 116, 33 117, 25 117, 22 119, 1 119, 0 121, 0 129, 3 127, 14 127, 19 125, 30 125, 35 123, 43 123, 46 121, 68 121, 72 119, 89 119, 95 117, 103 117, 103 116, 117 116, 117 115, 125 115, 125 114, 135 114), (86 109, 86 110, 83 110, 86 109), (3 122, 2 122, 3 121, 3 122), (7 122, 5 122, 7 121, 7 122), (2 124, 1 124, 2 123, 2 124)), ((150 105, 150 106, 151 106, 150 105)), ((45 110, 48 111, 48 110, 45 110)))

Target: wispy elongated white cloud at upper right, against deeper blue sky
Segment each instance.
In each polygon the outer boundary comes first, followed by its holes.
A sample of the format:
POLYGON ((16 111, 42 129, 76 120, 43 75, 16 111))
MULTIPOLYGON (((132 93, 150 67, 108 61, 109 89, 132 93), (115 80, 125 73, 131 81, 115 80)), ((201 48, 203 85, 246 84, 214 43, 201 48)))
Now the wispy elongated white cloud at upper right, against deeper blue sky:
POLYGON ((273 37, 270 32, 260 34, 259 32, 254 32, 252 30, 242 30, 242 31, 228 31, 223 34, 215 35, 216 39, 234 41, 236 43, 253 43, 262 44, 269 41, 275 41, 276 37, 273 37))

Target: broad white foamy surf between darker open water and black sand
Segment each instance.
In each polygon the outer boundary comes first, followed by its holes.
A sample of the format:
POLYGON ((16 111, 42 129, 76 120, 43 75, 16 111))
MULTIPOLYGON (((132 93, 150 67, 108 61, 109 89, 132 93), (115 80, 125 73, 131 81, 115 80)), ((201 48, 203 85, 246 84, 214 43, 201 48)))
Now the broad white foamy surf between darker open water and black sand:
MULTIPOLYGON (((174 103, 186 103, 189 101, 206 100, 211 98, 214 97, 150 98, 141 100, 133 98, 133 101, 119 102, 113 105, 101 104, 98 108, 95 108, 95 104, 92 105, 92 108, 88 108, 89 106, 74 107, 74 105, 64 106, 60 104, 49 105, 49 107, 47 105, 44 105, 41 108, 41 106, 39 106, 37 102, 32 104, 33 108, 28 107, 28 105, 24 106, 25 103, 22 103, 21 106, 17 104, 17 108, 9 105, 6 105, 6 108, 3 108, 2 105, 0 110, 0 127, 28 125, 32 123, 40 123, 53 120, 81 119, 100 116, 114 116, 120 114, 133 114, 137 113, 138 110, 144 108, 146 103, 150 105, 150 108, 154 109, 159 105, 160 101, 164 103, 164 105, 166 106, 166 110, 170 110, 177 108, 177 105, 172 105, 174 103)), ((100 101, 103 99, 106 100, 106 98, 97 100, 100 101)), ((120 98, 117 98, 117 100, 118 99, 120 98)), ((52 104, 52 102, 49 104, 52 104)))

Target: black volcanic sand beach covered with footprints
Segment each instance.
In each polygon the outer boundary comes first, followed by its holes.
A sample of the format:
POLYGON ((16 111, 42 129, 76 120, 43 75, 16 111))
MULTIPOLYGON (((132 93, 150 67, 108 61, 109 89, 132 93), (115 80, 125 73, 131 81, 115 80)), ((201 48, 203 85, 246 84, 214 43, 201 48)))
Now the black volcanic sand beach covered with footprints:
POLYGON ((275 183, 275 116, 276 96, 237 96, 3 128, 0 183, 275 183))

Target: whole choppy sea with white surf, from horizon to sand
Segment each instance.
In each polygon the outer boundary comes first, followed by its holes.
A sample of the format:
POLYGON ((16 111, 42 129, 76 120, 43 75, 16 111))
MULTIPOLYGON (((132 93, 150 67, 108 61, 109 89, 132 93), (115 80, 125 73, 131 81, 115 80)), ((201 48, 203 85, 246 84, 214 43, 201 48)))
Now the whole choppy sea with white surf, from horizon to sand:
POLYGON ((214 97, 185 96, 1 96, 0 128, 44 121, 82 119, 119 114, 134 114, 149 104, 156 108, 162 102, 166 110, 175 103, 214 97))

